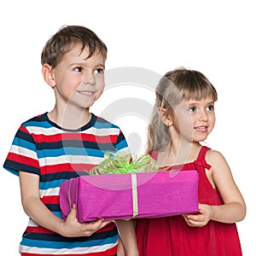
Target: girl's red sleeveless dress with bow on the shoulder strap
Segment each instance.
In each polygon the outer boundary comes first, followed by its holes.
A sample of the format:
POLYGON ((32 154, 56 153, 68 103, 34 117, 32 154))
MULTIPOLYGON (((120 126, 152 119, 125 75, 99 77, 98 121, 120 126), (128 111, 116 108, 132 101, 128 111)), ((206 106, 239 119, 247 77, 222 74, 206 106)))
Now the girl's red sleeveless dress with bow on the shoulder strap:
MULTIPOLYGON (((197 170, 199 201, 207 205, 222 205, 217 189, 209 183, 205 160, 207 150, 202 147, 194 162, 171 170, 197 170)), ((154 157, 154 156, 152 156, 154 157)), ((241 244, 236 224, 209 221, 204 227, 190 227, 181 215, 168 218, 137 219, 137 243, 140 256, 238 256, 241 244)))

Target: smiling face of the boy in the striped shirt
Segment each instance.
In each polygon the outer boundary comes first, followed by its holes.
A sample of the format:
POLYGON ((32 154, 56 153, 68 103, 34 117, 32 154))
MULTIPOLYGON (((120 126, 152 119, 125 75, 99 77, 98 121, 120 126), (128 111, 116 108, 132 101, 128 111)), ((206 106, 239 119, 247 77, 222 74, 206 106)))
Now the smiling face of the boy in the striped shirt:
POLYGON ((104 90, 105 59, 102 55, 92 55, 89 59, 88 48, 80 50, 74 45, 57 67, 52 69, 55 79, 56 104, 59 108, 74 106, 90 108, 104 90))

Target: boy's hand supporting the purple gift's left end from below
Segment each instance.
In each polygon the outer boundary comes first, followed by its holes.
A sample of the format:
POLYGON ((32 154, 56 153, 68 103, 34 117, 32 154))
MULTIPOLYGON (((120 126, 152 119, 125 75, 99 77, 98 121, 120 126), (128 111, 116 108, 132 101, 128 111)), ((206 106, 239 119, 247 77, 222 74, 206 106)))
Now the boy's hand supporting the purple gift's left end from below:
POLYGON ((100 218, 96 222, 80 224, 77 219, 76 207, 73 205, 71 212, 67 215, 66 221, 63 222, 61 235, 67 237, 91 236, 109 223, 110 221, 104 222, 103 218, 100 218))

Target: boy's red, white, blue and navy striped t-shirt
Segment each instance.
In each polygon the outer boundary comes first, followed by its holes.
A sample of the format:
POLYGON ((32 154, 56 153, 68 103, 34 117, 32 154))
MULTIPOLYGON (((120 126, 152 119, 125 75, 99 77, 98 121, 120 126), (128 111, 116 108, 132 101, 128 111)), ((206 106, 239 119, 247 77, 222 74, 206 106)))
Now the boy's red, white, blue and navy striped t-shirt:
MULTIPOLYGON (((76 131, 61 129, 47 113, 20 125, 3 167, 19 175, 39 176, 41 201, 61 218, 61 183, 79 177, 98 165, 106 152, 128 152, 119 127, 91 114, 90 122, 76 131)), ((64 237, 29 219, 20 242, 22 255, 115 255, 119 238, 115 225, 108 224, 92 236, 64 237), (92 254, 90 254, 92 253, 92 254)))

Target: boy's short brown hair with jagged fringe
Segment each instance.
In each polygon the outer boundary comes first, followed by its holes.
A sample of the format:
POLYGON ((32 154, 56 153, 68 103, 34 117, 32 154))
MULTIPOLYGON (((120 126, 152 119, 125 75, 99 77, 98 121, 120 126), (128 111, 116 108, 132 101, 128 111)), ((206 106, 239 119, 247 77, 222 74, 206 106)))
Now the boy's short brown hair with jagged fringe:
POLYGON ((95 32, 84 26, 62 26, 44 45, 41 55, 41 64, 49 64, 55 68, 74 45, 81 45, 81 52, 85 47, 89 49, 87 58, 101 54, 107 59, 107 46, 97 37, 95 32))

